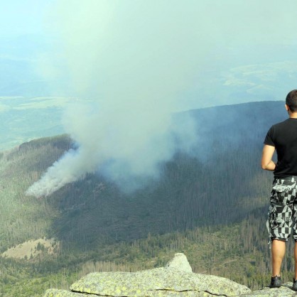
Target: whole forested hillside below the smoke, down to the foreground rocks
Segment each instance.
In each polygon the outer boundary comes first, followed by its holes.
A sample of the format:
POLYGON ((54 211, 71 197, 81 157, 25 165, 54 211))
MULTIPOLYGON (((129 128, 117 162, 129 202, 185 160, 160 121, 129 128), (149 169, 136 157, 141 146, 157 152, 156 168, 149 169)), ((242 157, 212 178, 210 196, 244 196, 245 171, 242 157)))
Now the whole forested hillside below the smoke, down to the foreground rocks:
MULTIPOLYGON (((42 238, 58 242, 54 257, 40 245, 38 253, 32 247, 30 259, 0 259, 2 291, 67 288, 84 269, 148 268, 163 264, 174 252, 187 254, 194 271, 261 286, 269 278, 264 221, 271 173, 261 171, 259 159, 266 131, 286 119, 284 102, 190 114, 197 123, 197 146, 190 155, 177 152, 160 164, 160 178, 131 194, 98 172, 48 198, 24 195, 73 146, 66 135, 2 152, 0 251, 42 238)), ((182 121, 183 114, 175 119, 182 121)), ((291 257, 284 265, 292 269, 291 257)), ((21 296, 34 296, 28 292, 21 296)))

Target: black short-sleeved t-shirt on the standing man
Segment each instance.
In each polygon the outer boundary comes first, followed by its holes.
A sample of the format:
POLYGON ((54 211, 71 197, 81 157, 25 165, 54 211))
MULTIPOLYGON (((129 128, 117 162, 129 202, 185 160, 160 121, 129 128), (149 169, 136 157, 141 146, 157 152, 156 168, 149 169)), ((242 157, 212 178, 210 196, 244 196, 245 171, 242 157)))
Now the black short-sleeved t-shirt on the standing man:
POLYGON ((297 119, 289 118, 271 126, 264 144, 276 148, 275 178, 297 175, 297 119))

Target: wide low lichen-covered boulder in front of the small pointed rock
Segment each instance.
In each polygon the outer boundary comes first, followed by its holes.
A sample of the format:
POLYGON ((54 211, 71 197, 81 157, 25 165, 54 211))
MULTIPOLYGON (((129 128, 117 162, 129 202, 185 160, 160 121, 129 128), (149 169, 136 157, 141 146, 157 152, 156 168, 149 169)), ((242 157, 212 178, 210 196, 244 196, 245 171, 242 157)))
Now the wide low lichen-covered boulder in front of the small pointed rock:
POLYGON ((193 274, 172 267, 137 272, 95 272, 72 284, 72 291, 101 296, 238 296, 246 286, 218 276, 193 274), (186 292, 186 294, 184 294, 186 292), (208 295, 207 295, 208 294, 208 295), (178 295, 177 295, 178 296, 178 295))

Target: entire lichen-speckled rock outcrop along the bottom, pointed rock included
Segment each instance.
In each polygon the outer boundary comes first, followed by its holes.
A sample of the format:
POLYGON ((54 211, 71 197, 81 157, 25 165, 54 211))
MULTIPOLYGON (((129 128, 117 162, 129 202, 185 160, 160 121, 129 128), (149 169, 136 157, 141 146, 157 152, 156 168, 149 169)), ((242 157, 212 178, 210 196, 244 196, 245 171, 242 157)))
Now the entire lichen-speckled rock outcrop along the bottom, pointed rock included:
POLYGON ((70 291, 49 289, 43 297, 198 297, 198 296, 296 296, 288 283, 281 288, 252 292, 219 276, 194 274, 184 254, 165 266, 137 272, 95 272, 70 286, 70 291))

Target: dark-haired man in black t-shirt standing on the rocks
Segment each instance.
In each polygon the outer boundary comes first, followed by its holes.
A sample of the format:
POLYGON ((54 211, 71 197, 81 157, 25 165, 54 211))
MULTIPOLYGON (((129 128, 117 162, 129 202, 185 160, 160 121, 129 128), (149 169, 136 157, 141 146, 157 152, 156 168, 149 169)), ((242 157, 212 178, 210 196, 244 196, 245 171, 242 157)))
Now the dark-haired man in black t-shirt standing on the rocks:
POLYGON ((281 262, 286 251, 286 241, 293 227, 295 240, 295 276, 293 290, 297 291, 297 90, 286 97, 288 119, 271 126, 264 140, 261 167, 274 171, 267 229, 271 243, 271 288, 281 286, 281 262), (272 161, 274 151, 277 163, 272 161))

